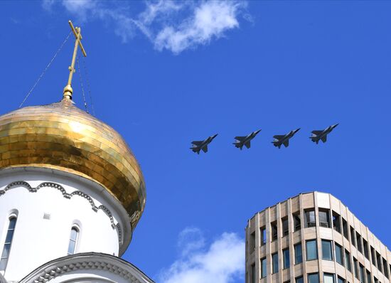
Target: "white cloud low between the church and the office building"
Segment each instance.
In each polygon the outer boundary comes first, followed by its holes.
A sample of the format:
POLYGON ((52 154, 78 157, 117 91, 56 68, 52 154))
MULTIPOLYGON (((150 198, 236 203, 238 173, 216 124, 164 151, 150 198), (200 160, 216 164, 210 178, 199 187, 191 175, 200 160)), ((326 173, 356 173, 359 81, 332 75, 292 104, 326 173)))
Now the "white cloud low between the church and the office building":
POLYGON ((197 228, 186 228, 178 240, 181 256, 161 272, 162 283, 230 283, 243 279, 245 242, 235 233, 223 233, 209 247, 197 228))

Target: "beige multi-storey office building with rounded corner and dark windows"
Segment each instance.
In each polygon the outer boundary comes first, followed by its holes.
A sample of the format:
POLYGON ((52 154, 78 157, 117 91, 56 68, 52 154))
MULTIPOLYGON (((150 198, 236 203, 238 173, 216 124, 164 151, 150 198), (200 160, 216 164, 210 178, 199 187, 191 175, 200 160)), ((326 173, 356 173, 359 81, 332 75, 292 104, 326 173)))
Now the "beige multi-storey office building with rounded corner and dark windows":
POLYGON ((328 193, 301 193, 247 223, 246 283, 389 283, 390 269, 390 250, 328 193))

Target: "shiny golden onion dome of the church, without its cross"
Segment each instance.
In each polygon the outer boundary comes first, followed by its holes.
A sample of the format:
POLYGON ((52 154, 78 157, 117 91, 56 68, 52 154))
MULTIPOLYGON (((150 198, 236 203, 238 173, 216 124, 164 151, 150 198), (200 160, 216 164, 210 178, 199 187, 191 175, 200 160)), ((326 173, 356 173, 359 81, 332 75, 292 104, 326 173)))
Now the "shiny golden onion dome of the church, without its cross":
POLYGON ((92 179, 122 203, 136 227, 145 206, 139 164, 107 124, 63 99, 0 117, 0 169, 36 166, 92 179))

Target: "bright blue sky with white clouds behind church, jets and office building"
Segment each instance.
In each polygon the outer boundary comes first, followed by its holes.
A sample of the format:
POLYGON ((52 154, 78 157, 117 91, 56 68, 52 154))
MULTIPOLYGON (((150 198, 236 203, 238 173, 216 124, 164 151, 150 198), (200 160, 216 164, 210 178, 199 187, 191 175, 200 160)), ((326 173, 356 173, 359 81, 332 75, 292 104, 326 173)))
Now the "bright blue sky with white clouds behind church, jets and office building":
MULTIPOLYGON (((391 246, 391 2, 0 7, 1 113, 20 105, 68 35, 68 19, 82 25, 96 117, 123 135, 146 179, 146 210, 124 259, 152 278, 178 282, 186 270, 174 263, 208 274, 208 260, 193 255, 240 251, 252 215, 305 191, 340 198, 391 246), (326 144, 309 140, 335 123, 326 144), (274 134, 297 127, 288 148, 272 146, 274 134), (255 129, 250 150, 232 146, 255 129), (208 154, 188 149, 215 133, 208 154)), ((25 105, 60 100, 72 49, 68 41, 25 105)), ((77 73, 73 88, 82 108, 77 73)), ((227 265, 213 282, 242 282, 244 265, 227 265)))

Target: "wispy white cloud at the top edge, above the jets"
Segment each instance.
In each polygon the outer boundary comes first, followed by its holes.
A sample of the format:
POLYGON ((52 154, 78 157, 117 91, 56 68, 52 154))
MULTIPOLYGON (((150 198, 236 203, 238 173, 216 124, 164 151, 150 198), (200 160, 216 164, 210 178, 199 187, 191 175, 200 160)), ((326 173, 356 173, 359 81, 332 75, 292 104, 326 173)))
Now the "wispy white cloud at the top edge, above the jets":
MULTIPOLYGON (((42 6, 52 11, 57 3, 43 0, 42 6)), ((131 15, 131 9, 121 1, 63 0, 61 6, 78 21, 99 19, 114 25, 114 33, 124 42, 138 30, 149 38, 156 50, 166 49, 178 54, 238 28, 240 15, 245 19, 249 17, 243 13, 246 3, 237 0, 146 1, 144 11, 136 15, 131 15)))

